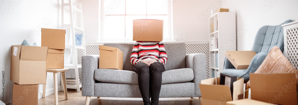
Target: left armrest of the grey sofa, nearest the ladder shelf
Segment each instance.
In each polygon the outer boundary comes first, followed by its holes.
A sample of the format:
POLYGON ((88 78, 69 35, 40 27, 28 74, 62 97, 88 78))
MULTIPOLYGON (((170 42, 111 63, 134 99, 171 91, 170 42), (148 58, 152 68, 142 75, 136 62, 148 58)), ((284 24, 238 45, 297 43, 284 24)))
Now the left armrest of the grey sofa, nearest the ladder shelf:
POLYGON ((99 55, 82 56, 82 96, 94 96, 94 70, 98 69, 99 55))

